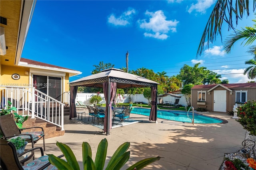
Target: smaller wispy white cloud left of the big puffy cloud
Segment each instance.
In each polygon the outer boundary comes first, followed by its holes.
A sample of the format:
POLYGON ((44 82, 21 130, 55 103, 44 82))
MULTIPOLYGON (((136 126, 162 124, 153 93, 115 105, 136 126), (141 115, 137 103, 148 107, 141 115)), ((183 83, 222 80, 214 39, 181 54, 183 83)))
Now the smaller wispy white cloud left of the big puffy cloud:
POLYGON ((116 18, 114 14, 111 14, 108 17, 108 23, 113 24, 114 26, 126 26, 130 24, 132 16, 136 13, 134 9, 127 10, 123 12, 119 17, 116 18))

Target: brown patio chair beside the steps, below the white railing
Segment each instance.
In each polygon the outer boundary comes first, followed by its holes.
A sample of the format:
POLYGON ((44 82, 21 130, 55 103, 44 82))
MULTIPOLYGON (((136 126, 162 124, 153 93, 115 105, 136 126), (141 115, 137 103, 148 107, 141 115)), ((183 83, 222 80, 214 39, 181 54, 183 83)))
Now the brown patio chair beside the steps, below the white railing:
MULTIPOLYGON (((8 115, 3 115, 0 117, 0 128, 3 132, 3 137, 5 140, 10 138, 17 138, 20 136, 24 138, 27 142, 32 144, 32 148, 34 148, 34 144, 43 138, 44 143, 44 128, 42 127, 30 127, 30 128, 22 128, 19 129, 15 123, 14 115, 12 113, 8 115), (40 129, 40 131, 33 131, 33 132, 22 132, 25 129, 40 129)), ((45 150, 45 143, 44 143, 44 150, 45 150)))

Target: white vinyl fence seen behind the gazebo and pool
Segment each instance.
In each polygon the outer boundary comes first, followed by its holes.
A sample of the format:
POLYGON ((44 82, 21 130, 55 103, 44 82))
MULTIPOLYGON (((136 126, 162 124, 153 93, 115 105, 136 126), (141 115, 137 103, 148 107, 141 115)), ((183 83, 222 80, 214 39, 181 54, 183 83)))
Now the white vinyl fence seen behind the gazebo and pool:
MULTIPOLYGON (((76 101, 82 101, 85 105, 91 105, 92 103, 90 103, 90 98, 94 95, 97 95, 97 93, 77 93, 76 101)), ((102 101, 100 101, 99 104, 106 103, 104 94, 100 93, 99 95, 102 98, 102 101)), ((187 103, 186 103, 185 96, 182 94, 180 94, 180 96, 181 98, 176 98, 172 96, 166 96, 161 98, 163 99, 164 103, 172 103, 172 104, 174 104, 175 99, 180 99, 178 104, 182 106, 186 106, 187 103)), ((148 99, 146 99, 144 95, 130 95, 130 97, 134 104, 148 103, 148 99)), ((128 102, 129 102, 129 94, 124 94, 124 96, 118 95, 116 98, 116 103, 128 103, 128 102)), ((159 98, 158 98, 158 103, 159 103, 159 98)))

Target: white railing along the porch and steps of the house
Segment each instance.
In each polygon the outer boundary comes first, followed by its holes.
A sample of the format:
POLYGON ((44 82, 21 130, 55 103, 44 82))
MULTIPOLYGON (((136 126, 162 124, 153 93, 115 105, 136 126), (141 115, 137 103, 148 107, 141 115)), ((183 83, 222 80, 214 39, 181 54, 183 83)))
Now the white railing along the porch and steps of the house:
POLYGON ((16 107, 22 116, 37 117, 64 130, 64 103, 38 91, 34 87, 0 87, 1 105, 16 107))

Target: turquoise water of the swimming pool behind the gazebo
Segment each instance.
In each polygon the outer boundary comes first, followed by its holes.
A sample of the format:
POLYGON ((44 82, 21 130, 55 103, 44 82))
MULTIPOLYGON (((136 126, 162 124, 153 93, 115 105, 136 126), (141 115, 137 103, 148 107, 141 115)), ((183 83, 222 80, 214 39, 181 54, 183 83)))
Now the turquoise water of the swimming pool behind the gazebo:
MULTIPOLYGON (((150 109, 134 107, 131 113, 149 116, 150 109)), ((189 112, 188 115, 190 118, 192 118, 192 112, 189 112)), ((160 119, 167 119, 171 121, 192 123, 192 120, 187 117, 186 111, 158 110, 157 117, 160 119)), ((208 123, 222 123, 222 122, 223 121, 220 119, 194 113, 194 123, 208 124, 208 123)))

